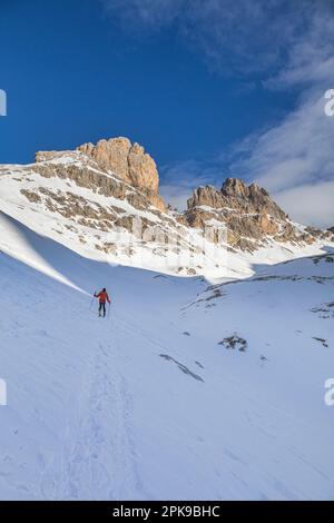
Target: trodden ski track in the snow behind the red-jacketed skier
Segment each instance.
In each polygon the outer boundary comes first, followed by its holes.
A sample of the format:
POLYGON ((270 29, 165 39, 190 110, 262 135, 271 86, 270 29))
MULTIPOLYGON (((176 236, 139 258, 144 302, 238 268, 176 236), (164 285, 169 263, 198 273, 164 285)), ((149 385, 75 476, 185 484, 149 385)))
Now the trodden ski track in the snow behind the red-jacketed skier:
MULTIPOLYGON (((108 326, 107 318, 97 322, 108 326)), ((100 330, 106 334, 105 328, 100 330)), ((117 328, 108 342, 101 339, 101 332, 96 334, 96 348, 78 392, 76 427, 68 421, 63 452, 57 456, 61 463, 59 484, 52 480, 52 468, 41 477, 41 493, 46 499, 92 499, 92 493, 98 493, 94 499, 125 500, 131 499, 134 492, 140 493, 131 433, 132 401, 126 378, 117 372, 120 354, 117 328)))

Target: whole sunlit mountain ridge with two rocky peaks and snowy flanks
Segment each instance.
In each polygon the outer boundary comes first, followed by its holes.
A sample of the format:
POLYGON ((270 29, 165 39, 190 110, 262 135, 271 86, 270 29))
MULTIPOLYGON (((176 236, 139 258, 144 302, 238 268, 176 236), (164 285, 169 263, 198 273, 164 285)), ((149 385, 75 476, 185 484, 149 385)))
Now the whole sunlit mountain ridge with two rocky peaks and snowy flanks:
POLYGON ((186 213, 169 210, 154 160, 126 138, 0 166, 0 210, 82 256, 183 276, 244 277, 253 264, 334 245, 333 231, 292 223, 237 179, 198 188, 186 213))

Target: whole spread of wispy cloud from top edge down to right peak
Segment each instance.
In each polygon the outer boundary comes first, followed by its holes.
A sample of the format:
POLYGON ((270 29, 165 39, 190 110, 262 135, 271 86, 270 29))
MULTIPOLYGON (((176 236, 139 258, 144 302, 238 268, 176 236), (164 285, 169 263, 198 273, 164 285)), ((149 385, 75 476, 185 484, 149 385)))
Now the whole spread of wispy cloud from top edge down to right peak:
POLYGON ((125 30, 179 37, 210 70, 295 96, 275 127, 246 137, 209 162, 163 172, 163 191, 184 207, 187 190, 240 176, 264 185, 297 220, 334 224, 334 117, 324 92, 334 88, 334 2, 330 0, 101 0, 125 30))

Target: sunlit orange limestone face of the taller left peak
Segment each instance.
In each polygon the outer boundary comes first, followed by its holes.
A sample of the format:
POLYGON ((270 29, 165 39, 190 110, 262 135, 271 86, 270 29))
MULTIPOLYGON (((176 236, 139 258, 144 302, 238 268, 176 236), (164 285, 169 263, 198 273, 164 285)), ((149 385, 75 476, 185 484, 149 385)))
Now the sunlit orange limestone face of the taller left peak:
POLYGON ((156 162, 139 144, 131 144, 128 138, 119 137, 99 140, 96 145, 84 144, 77 150, 144 191, 153 205, 165 210, 164 200, 158 196, 159 175, 156 162))

